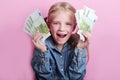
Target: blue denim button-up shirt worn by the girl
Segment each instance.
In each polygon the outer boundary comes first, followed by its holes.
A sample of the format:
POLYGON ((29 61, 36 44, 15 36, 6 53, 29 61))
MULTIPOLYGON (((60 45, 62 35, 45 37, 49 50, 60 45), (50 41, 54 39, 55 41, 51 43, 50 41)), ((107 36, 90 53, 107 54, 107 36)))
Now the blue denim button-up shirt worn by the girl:
POLYGON ((52 37, 46 39, 47 51, 34 49, 32 68, 37 80, 84 80, 86 73, 86 49, 72 49, 65 44, 60 51, 52 37))

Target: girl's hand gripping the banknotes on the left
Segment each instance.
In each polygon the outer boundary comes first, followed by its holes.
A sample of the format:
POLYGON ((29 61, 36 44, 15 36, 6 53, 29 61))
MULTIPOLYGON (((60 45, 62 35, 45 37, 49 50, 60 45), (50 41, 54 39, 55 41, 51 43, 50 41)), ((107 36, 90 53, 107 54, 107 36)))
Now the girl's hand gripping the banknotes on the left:
POLYGON ((33 36, 33 44, 36 48, 38 48, 40 51, 46 51, 47 50, 47 47, 44 43, 40 42, 40 39, 43 37, 43 35, 38 32, 36 33, 34 36, 33 36))

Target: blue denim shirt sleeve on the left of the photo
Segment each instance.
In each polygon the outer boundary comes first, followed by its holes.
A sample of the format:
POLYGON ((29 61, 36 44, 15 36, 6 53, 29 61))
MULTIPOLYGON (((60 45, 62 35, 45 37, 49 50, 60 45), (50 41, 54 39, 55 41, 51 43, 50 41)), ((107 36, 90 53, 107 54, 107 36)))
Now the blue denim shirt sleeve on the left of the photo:
POLYGON ((36 48, 34 49, 34 56, 31 64, 37 78, 49 79, 51 77, 52 69, 49 61, 50 57, 49 50, 41 52, 36 48))

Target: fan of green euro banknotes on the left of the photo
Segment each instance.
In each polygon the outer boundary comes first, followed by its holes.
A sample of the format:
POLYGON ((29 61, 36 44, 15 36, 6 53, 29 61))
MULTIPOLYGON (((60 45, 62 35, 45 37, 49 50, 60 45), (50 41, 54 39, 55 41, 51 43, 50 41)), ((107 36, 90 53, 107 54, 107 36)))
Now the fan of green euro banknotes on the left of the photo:
POLYGON ((38 9, 28 16, 25 22, 24 31, 30 36, 33 36, 37 32, 42 33, 43 38, 40 39, 40 42, 43 43, 45 39, 50 36, 49 28, 38 9))

